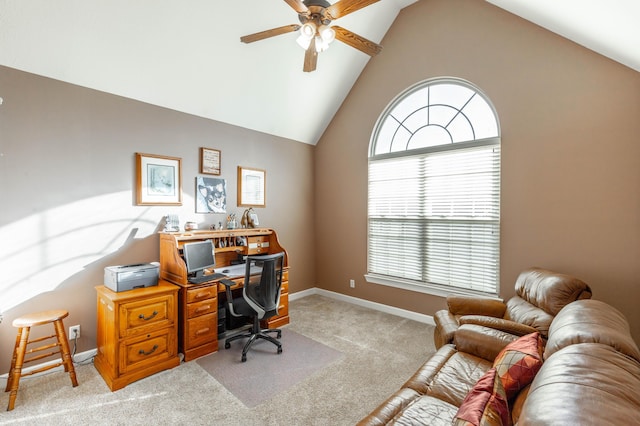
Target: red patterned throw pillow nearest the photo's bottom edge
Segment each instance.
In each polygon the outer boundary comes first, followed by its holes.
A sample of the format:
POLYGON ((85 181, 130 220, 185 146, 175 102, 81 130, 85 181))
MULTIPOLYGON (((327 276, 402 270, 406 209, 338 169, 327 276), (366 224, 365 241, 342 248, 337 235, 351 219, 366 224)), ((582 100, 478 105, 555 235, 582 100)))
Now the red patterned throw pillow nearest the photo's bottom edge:
POLYGON ((497 370, 491 368, 462 401, 454 426, 511 426, 507 396, 497 370))

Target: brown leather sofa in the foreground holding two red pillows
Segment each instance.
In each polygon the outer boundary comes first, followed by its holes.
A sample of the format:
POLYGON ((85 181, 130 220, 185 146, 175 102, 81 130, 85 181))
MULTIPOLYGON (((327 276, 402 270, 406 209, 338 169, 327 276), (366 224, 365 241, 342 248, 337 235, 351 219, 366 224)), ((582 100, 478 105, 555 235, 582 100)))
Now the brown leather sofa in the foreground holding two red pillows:
MULTIPOLYGON (((460 326, 455 345, 438 349, 359 425, 451 425, 467 393, 514 339, 460 326)), ((551 322, 540 370, 509 402, 509 415, 518 426, 640 424, 640 350, 624 316, 598 300, 563 308, 551 322)))

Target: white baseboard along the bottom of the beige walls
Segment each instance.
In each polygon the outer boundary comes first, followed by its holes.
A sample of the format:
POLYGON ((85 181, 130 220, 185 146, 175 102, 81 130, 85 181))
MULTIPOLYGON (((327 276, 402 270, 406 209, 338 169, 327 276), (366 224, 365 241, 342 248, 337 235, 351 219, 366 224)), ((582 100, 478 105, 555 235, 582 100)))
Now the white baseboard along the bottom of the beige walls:
MULTIPOLYGON (((347 296, 346 294, 340 294, 340 293, 324 290, 317 287, 291 293, 289 294, 289 301, 302 299, 303 297, 311 296, 314 294, 319 294, 321 296, 329 297, 331 299, 352 303, 354 305, 362 306, 369 309, 374 309, 376 311, 385 312, 387 314, 396 315, 396 316, 407 318, 413 321, 418 321, 418 322, 422 322, 429 325, 435 325, 435 322, 433 321, 433 317, 430 315, 419 314, 417 312, 407 311, 406 309, 395 308, 393 306, 383 305, 382 303, 371 302, 369 300, 359 299, 357 297, 347 296)), ((97 353, 98 353, 98 350, 95 348, 89 349, 88 351, 80 352, 73 357, 73 362, 76 364, 83 363, 89 360, 90 358, 93 358, 94 356, 96 356, 97 353)), ((35 370, 37 368, 42 368, 47 365, 55 364, 56 362, 59 362, 59 361, 53 360, 53 361, 45 362, 39 365, 27 367, 23 369, 23 372, 28 373, 29 371, 35 370)), ((54 371, 64 371, 63 366, 52 368, 51 370, 43 371, 42 373, 36 373, 29 377, 37 377, 39 375, 49 374, 54 371)), ((0 379, 3 379, 3 380, 7 380, 8 377, 9 377, 9 373, 0 375, 0 379)))

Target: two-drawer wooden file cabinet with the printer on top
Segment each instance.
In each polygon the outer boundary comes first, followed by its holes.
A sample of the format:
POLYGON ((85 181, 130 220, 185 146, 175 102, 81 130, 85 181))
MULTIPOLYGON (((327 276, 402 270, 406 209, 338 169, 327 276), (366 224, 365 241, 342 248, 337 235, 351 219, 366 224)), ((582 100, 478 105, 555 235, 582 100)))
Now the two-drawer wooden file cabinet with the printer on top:
POLYGON ((157 286, 119 293, 96 287, 98 353, 94 364, 112 391, 180 364, 178 290, 164 280, 157 286))

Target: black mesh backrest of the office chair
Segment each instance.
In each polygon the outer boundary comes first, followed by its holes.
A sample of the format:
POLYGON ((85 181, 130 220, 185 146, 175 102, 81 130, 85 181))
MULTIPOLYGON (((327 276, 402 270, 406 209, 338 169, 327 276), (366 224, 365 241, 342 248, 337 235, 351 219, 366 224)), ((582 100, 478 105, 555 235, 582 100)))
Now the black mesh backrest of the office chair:
POLYGON ((259 319, 269 318, 278 314, 280 304, 280 287, 282 286, 282 267, 284 252, 262 256, 247 256, 243 296, 247 303, 258 314, 259 319), (252 262, 262 263, 260 280, 251 280, 250 268, 252 262))

